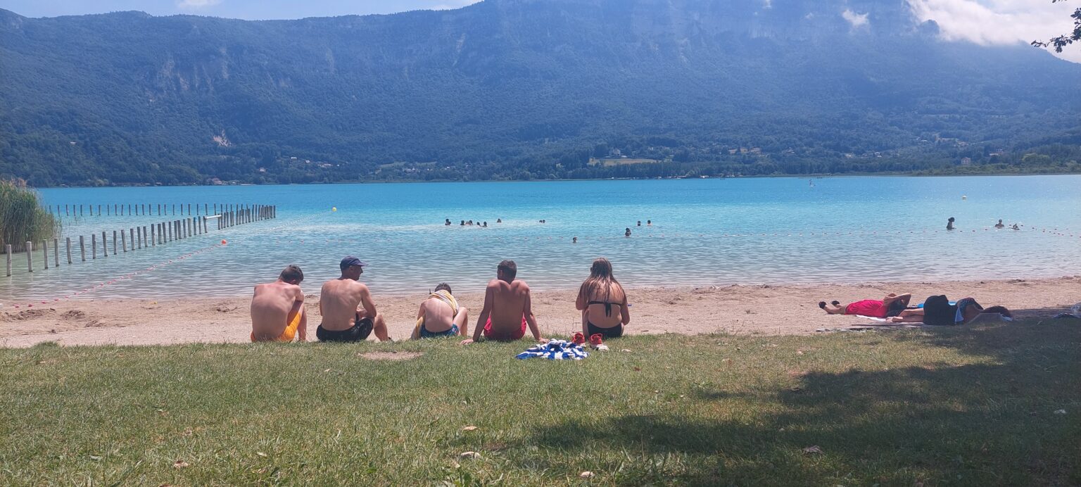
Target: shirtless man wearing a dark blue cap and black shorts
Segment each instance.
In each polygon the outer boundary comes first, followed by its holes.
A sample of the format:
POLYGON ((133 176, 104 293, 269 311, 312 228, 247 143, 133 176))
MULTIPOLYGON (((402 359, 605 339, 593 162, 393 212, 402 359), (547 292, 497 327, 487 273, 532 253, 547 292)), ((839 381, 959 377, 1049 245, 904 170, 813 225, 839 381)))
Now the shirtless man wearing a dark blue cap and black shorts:
POLYGON ((319 294, 319 314, 323 322, 316 328, 319 341, 363 341, 375 332, 379 341, 387 341, 387 324, 375 311, 372 294, 360 283, 364 262, 349 256, 342 259, 342 276, 323 284, 319 294))

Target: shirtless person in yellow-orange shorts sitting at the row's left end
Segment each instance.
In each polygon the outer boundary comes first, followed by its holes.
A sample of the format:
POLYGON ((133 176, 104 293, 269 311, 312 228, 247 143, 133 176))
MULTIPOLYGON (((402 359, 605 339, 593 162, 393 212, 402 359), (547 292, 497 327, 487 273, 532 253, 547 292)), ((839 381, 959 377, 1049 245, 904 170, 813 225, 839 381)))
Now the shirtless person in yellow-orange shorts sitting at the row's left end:
POLYGON ((308 339, 308 316, 304 313, 304 272, 296 266, 281 271, 278 281, 255 286, 252 296, 252 341, 308 339))

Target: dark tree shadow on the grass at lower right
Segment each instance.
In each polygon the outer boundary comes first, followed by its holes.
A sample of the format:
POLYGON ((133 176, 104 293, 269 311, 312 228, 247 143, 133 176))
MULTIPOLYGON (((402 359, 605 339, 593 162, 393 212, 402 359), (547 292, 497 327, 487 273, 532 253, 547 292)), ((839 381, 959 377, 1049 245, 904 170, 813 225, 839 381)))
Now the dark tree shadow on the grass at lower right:
POLYGON ((697 394, 693 408, 673 403, 652 416, 570 419, 524 443, 598 458, 623 452, 625 461, 593 469, 625 484, 1076 485, 1079 337, 1078 327, 1035 324, 891 336, 982 360, 812 371, 798 388, 697 394), (763 412, 750 418, 726 414, 756 404, 763 412), (804 451, 812 446, 822 452, 804 451), (673 456, 657 470, 656 459, 673 456))

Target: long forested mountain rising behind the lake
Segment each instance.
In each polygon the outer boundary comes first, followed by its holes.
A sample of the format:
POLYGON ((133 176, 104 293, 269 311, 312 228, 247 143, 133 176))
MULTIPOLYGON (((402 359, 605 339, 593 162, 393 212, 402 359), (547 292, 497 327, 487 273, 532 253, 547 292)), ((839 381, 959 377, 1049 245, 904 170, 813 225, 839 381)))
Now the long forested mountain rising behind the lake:
POLYGON ((1033 146, 1062 163, 1081 160, 1078 79, 1032 48, 940 41, 900 0, 485 0, 262 22, 0 10, 0 176, 939 171, 1023 165, 1033 146))

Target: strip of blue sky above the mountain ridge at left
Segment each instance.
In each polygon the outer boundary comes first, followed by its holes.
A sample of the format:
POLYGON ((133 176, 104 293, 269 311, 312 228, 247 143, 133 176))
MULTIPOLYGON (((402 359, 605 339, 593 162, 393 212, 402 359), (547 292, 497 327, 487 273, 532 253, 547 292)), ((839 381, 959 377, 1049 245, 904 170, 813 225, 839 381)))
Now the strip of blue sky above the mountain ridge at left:
POLYGON ((151 15, 197 14, 254 21, 457 9, 476 2, 477 0, 0 0, 0 8, 27 17, 138 10, 151 15))

